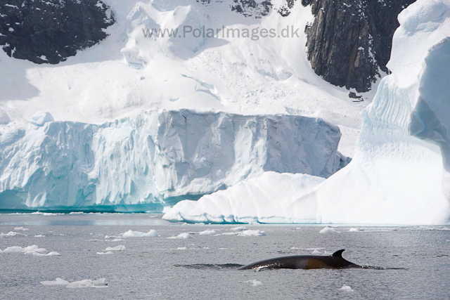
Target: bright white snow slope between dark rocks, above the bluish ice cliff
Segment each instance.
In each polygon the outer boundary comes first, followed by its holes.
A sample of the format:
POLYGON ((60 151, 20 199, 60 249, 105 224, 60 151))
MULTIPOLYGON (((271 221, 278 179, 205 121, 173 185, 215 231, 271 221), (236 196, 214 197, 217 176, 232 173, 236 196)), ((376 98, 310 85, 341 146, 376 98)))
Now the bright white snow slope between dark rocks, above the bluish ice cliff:
POLYGON ((296 3, 283 18, 277 10, 285 1, 276 0, 269 15, 245 18, 231 11, 231 0, 208 2, 105 0, 117 18, 110 36, 58 65, 0 51, 0 133, 26 128, 39 111, 90 124, 157 109, 304 115, 340 126, 340 152, 352 156, 366 103, 352 103, 345 89, 311 70, 304 36, 311 8, 296 3), (293 26, 300 37, 146 38, 142 32, 184 25, 278 32, 293 26))

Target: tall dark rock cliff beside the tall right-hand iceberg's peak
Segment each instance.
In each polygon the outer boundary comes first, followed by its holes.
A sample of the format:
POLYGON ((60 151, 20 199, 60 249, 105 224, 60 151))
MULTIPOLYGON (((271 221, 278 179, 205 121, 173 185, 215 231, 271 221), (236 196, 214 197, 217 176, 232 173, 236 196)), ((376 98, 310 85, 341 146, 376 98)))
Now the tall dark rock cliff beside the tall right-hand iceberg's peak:
POLYGON ((316 16, 307 33, 308 59, 316 74, 358 92, 389 72, 397 15, 416 0, 302 0, 316 16))

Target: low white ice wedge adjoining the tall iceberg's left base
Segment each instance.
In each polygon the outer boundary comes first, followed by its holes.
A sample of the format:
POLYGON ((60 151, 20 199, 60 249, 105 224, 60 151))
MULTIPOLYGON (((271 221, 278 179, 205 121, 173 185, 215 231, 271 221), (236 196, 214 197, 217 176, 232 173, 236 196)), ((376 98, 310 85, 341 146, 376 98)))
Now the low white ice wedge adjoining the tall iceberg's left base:
POLYGON ((240 181, 198 201, 181 201, 162 219, 207 223, 297 223, 301 212, 311 211, 314 218, 310 222, 314 223, 316 203, 296 200, 323 181, 324 178, 307 174, 264 172, 262 176, 240 181))

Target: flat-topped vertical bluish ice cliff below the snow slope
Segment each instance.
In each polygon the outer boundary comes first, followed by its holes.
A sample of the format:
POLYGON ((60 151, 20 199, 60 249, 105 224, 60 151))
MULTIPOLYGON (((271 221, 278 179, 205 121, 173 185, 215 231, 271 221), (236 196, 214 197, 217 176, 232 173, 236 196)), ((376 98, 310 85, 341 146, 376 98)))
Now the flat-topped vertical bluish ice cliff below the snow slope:
POLYGON ((0 209, 162 211, 264 171, 323 178, 345 165, 340 130, 318 118, 153 110, 104 124, 0 134, 0 209))

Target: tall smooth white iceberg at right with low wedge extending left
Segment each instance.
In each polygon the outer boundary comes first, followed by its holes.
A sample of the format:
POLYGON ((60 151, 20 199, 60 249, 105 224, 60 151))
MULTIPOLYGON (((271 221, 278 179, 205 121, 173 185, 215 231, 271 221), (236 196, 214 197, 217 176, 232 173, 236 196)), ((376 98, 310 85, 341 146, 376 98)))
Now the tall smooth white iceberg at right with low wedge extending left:
POLYGON ((198 202, 181 201, 163 219, 449 223, 450 1, 418 0, 398 19, 387 65, 392 74, 382 79, 373 103, 362 113, 355 155, 347 167, 322 183, 307 175, 290 178, 297 188, 305 185, 300 191, 285 188, 281 177, 288 175, 264 174, 198 202), (273 182, 270 187, 267 178, 273 182), (257 191, 266 197, 248 197, 257 191))

